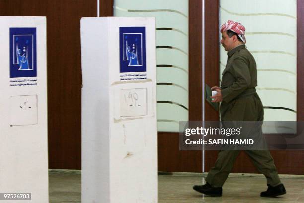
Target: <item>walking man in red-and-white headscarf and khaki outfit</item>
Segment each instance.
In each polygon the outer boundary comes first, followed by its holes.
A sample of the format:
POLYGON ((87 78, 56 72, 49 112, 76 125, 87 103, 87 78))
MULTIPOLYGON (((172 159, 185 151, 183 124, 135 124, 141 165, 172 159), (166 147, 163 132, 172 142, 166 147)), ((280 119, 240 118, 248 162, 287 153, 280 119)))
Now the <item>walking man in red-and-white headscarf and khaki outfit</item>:
MULTIPOLYGON (((221 27, 221 44, 228 53, 226 68, 223 71, 221 87, 213 87, 217 94, 211 98, 222 102, 220 114, 222 121, 263 121, 263 105, 256 93, 257 69, 253 56, 246 49, 245 27, 228 20, 221 27)), ((273 158, 268 150, 245 151, 254 166, 267 179, 268 189, 261 197, 275 197, 286 193, 281 183, 273 158)), ((211 168, 205 185, 195 185, 193 189, 209 196, 222 196, 222 186, 226 181, 233 163, 238 156, 237 150, 222 150, 215 166, 211 168)))

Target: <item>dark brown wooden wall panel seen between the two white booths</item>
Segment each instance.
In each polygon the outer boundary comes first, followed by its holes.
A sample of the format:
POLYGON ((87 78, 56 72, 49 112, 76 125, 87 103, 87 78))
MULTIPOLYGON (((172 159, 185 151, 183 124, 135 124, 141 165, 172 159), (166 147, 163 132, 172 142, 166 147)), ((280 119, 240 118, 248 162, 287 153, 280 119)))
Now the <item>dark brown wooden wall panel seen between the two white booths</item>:
POLYGON ((47 16, 49 168, 81 168, 80 18, 96 0, 0 0, 0 15, 47 16))

